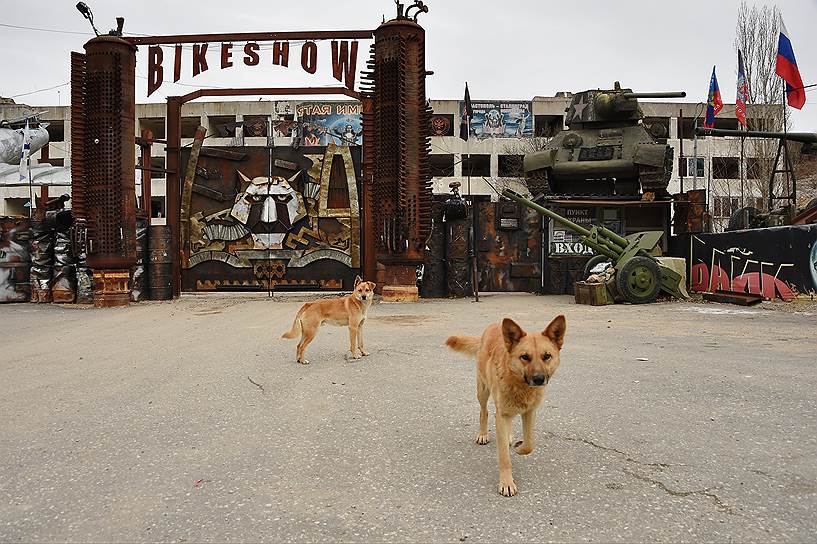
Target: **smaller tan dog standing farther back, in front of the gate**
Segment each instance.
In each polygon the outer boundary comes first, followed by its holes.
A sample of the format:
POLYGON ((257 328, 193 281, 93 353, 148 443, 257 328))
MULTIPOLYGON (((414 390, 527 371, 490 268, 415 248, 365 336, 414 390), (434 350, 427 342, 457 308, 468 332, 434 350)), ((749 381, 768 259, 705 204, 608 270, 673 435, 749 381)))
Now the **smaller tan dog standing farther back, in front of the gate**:
POLYGON ((292 328, 281 335, 281 338, 295 338, 301 334, 296 351, 297 360, 301 364, 309 364, 304 357, 304 350, 315 335, 318 328, 324 323, 331 325, 348 325, 349 352, 355 359, 368 355, 363 347, 363 325, 366 323, 366 313, 374 299, 375 283, 363 281, 360 276, 355 278, 355 290, 351 295, 340 298, 327 298, 307 302, 295 315, 292 328))

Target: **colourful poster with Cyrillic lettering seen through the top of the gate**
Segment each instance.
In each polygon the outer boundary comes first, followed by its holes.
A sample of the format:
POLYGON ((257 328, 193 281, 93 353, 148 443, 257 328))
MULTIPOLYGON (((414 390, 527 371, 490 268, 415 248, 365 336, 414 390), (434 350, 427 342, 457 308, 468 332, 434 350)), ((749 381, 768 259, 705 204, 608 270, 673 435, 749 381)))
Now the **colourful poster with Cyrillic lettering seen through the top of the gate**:
POLYGON ((306 146, 361 145, 363 120, 358 102, 305 102, 297 107, 306 146))

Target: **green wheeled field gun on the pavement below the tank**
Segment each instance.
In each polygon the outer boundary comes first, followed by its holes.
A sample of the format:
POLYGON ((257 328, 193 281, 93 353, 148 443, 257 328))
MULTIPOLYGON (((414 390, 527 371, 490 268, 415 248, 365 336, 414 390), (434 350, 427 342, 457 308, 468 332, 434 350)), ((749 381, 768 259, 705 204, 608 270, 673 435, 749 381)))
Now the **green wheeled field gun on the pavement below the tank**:
POLYGON ((612 261, 616 274, 607 283, 607 289, 614 300, 633 304, 653 302, 661 291, 676 298, 687 298, 682 290, 681 274, 661 265, 655 258, 660 251, 658 244, 664 235, 662 231, 620 236, 599 225, 587 229, 510 189, 502 191, 502 196, 546 215, 581 235, 581 242, 598 254, 587 263, 583 279, 595 265, 612 261))

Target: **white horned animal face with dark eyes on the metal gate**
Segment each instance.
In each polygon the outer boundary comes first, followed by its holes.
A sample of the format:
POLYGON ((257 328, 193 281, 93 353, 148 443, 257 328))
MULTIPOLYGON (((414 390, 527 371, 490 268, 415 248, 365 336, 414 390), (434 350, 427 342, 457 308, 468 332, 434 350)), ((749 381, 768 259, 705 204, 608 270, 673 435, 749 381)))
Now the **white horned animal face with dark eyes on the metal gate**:
POLYGON ((303 196, 282 177, 239 175, 249 185, 236 196, 230 215, 250 231, 254 249, 280 249, 292 226, 306 217, 303 196))

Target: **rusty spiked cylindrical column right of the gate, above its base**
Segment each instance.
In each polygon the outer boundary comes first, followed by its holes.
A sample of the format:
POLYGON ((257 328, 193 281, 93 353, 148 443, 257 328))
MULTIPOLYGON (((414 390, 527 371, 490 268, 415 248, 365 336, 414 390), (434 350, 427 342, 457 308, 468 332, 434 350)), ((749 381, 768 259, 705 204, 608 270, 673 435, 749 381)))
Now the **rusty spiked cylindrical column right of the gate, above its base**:
POLYGON ((431 110, 425 98, 425 31, 405 17, 375 30, 363 93, 366 183, 381 262, 421 263, 431 231, 431 110), (371 167, 371 169, 368 169, 371 167))

